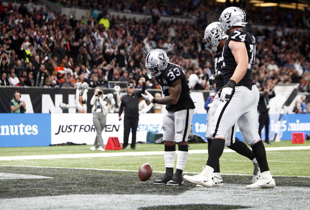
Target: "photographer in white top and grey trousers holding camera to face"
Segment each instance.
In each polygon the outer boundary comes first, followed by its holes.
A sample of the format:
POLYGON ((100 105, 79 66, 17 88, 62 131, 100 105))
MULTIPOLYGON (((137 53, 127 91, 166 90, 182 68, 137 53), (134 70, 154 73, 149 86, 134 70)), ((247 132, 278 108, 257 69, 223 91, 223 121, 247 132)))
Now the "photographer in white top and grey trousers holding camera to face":
POLYGON ((95 92, 91 98, 91 113, 93 113, 93 123, 97 132, 95 143, 91 147, 91 150, 95 151, 97 148, 99 151, 104 151, 104 144, 102 139, 102 131, 107 122, 108 114, 108 95, 103 94, 101 87, 95 87, 95 92))

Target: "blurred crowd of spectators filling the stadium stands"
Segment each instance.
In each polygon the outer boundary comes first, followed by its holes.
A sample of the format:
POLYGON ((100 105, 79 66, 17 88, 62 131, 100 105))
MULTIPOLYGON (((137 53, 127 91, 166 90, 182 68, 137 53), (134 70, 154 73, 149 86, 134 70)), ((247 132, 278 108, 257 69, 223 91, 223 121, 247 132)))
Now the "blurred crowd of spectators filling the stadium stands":
MULTIPOLYGON (((162 48, 170 62, 184 70, 192 89, 209 89, 206 81, 214 74, 214 55, 204 47, 204 29, 218 20, 226 4, 200 0, 53 2, 91 8, 91 14, 77 20, 74 14, 38 8, 31 0, 20 7, 0 2, 1 85, 74 88, 77 82, 87 82, 90 87, 108 87, 110 81, 113 87, 113 82, 122 81, 139 88, 144 77, 147 88, 160 88, 147 74, 144 62, 149 51, 162 48), (152 18, 114 16, 110 9, 152 18), (160 21, 166 15, 194 21, 160 21)), ((253 76, 259 89, 299 83, 299 92, 310 92, 309 11, 248 3, 236 6, 245 10, 245 29, 256 38, 253 76)))

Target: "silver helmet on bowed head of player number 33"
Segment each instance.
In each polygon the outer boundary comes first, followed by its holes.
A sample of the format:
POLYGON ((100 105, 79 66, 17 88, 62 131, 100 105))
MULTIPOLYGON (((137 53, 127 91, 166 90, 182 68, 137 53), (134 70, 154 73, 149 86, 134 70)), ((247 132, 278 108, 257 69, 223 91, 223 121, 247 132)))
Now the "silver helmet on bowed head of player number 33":
POLYGON ((148 70, 148 74, 152 77, 156 77, 167 68, 169 58, 165 51, 162 49, 155 49, 148 53, 145 60, 145 67, 148 70))

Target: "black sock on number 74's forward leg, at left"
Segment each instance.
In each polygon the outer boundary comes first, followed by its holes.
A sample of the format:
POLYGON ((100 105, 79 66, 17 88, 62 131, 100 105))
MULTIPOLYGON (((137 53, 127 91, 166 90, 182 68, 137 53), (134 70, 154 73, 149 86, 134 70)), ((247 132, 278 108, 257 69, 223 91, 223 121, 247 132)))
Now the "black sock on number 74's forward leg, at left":
POLYGON ((214 138, 212 139, 212 144, 210 146, 210 150, 208 151, 209 157, 207 161, 207 166, 210 166, 211 168, 216 167, 216 164, 219 162, 219 158, 223 154, 225 146, 225 139, 221 138, 214 138))

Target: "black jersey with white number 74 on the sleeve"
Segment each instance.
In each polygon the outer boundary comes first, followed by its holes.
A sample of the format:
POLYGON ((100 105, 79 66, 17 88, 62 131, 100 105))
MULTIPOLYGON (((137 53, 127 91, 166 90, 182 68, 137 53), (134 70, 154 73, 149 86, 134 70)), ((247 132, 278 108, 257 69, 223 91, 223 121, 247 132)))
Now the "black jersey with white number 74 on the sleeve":
POLYGON ((229 34, 225 42, 222 54, 222 73, 224 78, 224 84, 227 84, 237 66, 236 60, 232 55, 232 51, 228 47, 230 41, 244 42, 246 45, 246 51, 248 53, 248 69, 246 70, 246 74, 244 75, 244 77, 236 86, 252 87, 252 85, 255 84, 252 75, 252 69, 255 61, 255 37, 249 32, 242 29, 234 30, 229 34))

